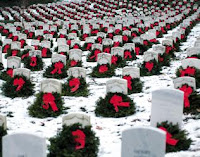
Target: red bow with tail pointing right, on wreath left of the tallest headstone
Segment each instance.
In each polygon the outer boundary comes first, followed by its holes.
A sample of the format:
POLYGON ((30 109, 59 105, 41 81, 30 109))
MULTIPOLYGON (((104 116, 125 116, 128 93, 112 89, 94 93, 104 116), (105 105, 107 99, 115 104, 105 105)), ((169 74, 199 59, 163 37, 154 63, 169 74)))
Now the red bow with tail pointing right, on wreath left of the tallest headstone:
POLYGON ((122 102, 122 97, 118 96, 118 95, 114 95, 112 96, 112 98, 110 99, 110 103, 115 107, 115 111, 119 112, 118 106, 122 106, 122 107, 129 107, 129 102, 122 102))

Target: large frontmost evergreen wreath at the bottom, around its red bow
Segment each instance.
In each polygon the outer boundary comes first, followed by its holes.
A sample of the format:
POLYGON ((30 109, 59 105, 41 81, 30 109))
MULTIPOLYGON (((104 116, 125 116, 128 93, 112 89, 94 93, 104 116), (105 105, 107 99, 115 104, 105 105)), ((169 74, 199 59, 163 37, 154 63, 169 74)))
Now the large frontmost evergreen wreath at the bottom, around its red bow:
POLYGON ((49 139, 48 157, 97 157, 99 138, 96 137, 91 126, 82 127, 76 123, 71 126, 63 126, 62 130, 55 137, 49 139), (81 130, 85 134, 85 147, 76 150, 75 137, 72 131, 81 130))

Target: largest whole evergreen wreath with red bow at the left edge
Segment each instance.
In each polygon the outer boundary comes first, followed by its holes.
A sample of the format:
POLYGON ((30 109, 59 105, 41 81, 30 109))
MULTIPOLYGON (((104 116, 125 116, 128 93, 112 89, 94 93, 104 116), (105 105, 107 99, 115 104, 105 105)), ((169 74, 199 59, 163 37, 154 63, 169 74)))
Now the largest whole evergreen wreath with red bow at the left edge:
POLYGON ((2 86, 3 94, 10 98, 29 97, 34 94, 34 84, 25 76, 16 75, 2 86))

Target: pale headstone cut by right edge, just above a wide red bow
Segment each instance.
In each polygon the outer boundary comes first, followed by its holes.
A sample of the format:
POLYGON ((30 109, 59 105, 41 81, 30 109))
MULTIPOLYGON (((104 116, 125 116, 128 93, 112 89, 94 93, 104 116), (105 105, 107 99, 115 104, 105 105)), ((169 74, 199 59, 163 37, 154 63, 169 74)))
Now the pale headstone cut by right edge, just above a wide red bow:
POLYGON ((196 69, 200 69, 200 59, 187 58, 187 59, 182 60, 183 69, 186 69, 188 66, 195 67, 196 69))

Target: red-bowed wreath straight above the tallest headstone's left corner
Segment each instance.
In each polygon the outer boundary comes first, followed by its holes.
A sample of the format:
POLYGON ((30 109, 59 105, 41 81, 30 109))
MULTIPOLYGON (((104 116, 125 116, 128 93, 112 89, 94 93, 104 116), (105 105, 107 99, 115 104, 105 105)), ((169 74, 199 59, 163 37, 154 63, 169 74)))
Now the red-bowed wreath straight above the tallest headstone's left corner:
POLYGON ((160 74, 161 66, 158 64, 158 62, 154 59, 149 62, 144 62, 140 67, 140 75, 141 76, 152 76, 152 75, 158 75, 160 74), (146 68, 149 64, 149 69, 146 68))

